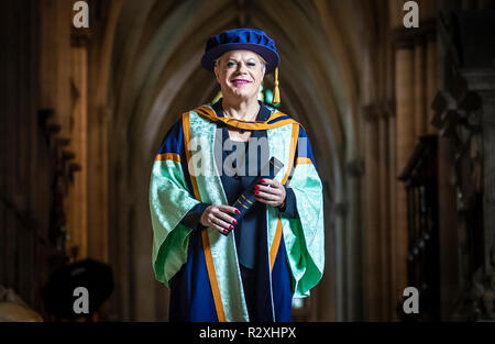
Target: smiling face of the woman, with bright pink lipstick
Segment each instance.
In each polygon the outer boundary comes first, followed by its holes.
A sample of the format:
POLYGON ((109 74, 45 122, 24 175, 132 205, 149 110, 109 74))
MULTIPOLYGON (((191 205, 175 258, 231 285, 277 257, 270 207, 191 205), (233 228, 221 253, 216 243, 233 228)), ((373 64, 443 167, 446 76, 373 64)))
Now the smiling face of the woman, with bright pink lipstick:
POLYGON ((256 53, 231 51, 218 59, 215 75, 223 98, 231 101, 257 99, 265 66, 256 53))

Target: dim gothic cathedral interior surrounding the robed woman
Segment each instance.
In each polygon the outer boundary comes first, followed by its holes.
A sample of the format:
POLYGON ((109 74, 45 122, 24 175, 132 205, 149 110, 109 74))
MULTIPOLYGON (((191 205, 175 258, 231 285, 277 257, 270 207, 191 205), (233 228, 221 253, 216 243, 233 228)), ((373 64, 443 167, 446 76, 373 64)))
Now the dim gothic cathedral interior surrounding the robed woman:
POLYGON ((403 0, 82 2, 89 27, 76 1, 0 1, 0 313, 62 320, 43 288, 89 258, 113 277, 91 321, 167 321, 154 155, 219 92, 206 40, 256 27, 323 184, 324 274, 293 320, 495 320, 495 1, 413 1, 411 27, 403 0))

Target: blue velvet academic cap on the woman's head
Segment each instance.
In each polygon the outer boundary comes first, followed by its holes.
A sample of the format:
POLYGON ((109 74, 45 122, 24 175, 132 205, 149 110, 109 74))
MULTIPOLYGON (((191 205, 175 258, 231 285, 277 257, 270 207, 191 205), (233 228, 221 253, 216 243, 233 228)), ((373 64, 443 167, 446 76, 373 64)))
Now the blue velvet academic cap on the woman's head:
POLYGON ((230 51, 251 51, 266 60, 266 74, 275 70, 280 63, 275 42, 261 30, 234 29, 224 31, 208 40, 201 65, 213 71, 215 60, 230 51))

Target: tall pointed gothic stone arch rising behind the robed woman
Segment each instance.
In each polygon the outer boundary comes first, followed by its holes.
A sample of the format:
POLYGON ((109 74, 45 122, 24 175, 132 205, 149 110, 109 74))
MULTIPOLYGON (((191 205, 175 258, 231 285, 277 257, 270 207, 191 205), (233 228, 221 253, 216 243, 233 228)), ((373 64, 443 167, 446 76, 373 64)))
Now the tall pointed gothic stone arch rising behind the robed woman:
MULTIPOLYGON (((110 166, 122 170, 118 180, 110 177, 109 182, 110 199, 112 195, 127 197, 119 200, 110 223, 128 228, 128 235, 135 241, 132 252, 138 319, 152 319, 153 311, 147 309, 156 308, 155 298, 165 300, 161 291, 155 292, 160 288, 153 280, 147 255, 151 243, 151 231, 146 230, 147 185, 153 156, 178 115, 210 101, 216 92, 215 79, 199 66, 206 38, 224 29, 242 26, 242 21, 263 29, 277 42, 283 107, 308 130, 319 162, 326 185, 326 221, 328 229, 332 229, 327 240, 326 287, 320 289, 332 293, 324 297, 329 302, 353 293, 349 289, 355 289, 355 281, 349 276, 355 273, 349 270, 346 262, 358 247, 352 247, 345 236, 360 232, 356 223, 349 221, 356 213, 353 207, 359 202, 360 191, 350 182, 346 166, 360 159, 356 134, 360 58, 353 54, 356 43, 349 43, 348 38, 358 30, 352 21, 360 13, 340 3, 122 2, 111 40, 113 69, 108 90, 113 110, 109 154, 114 164, 110 166), (351 23, 342 26, 345 20, 338 22, 336 16, 349 18, 351 23), (336 211, 341 208, 348 208, 348 212, 336 211), (129 212, 134 223, 124 223, 129 217, 122 214, 129 212)), ((273 82, 273 77, 267 76, 266 82, 273 82)), ((113 176, 113 170, 109 176, 113 176)), ((318 312, 323 319, 343 320, 352 317, 345 313, 344 303, 327 313, 318 312)))

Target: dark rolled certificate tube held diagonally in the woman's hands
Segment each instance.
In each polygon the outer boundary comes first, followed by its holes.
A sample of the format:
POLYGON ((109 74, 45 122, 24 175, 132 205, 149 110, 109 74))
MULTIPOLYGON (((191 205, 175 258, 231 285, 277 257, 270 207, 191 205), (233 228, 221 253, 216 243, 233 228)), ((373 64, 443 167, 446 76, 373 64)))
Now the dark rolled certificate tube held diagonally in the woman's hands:
MULTIPOLYGON (((276 157, 272 156, 272 158, 266 163, 266 165, 258 171, 257 176, 253 179, 253 181, 248 186, 248 188, 242 192, 242 195, 238 198, 238 200, 232 204, 232 207, 235 207, 240 213, 233 215, 233 218, 238 221, 238 223, 241 222, 242 218, 244 218, 245 213, 254 204, 256 201, 254 197, 254 186, 260 182, 261 179, 267 178, 273 179, 277 173, 284 167, 284 164, 277 159, 276 157)), ((229 235, 231 231, 228 233, 221 233, 223 235, 229 235)))

